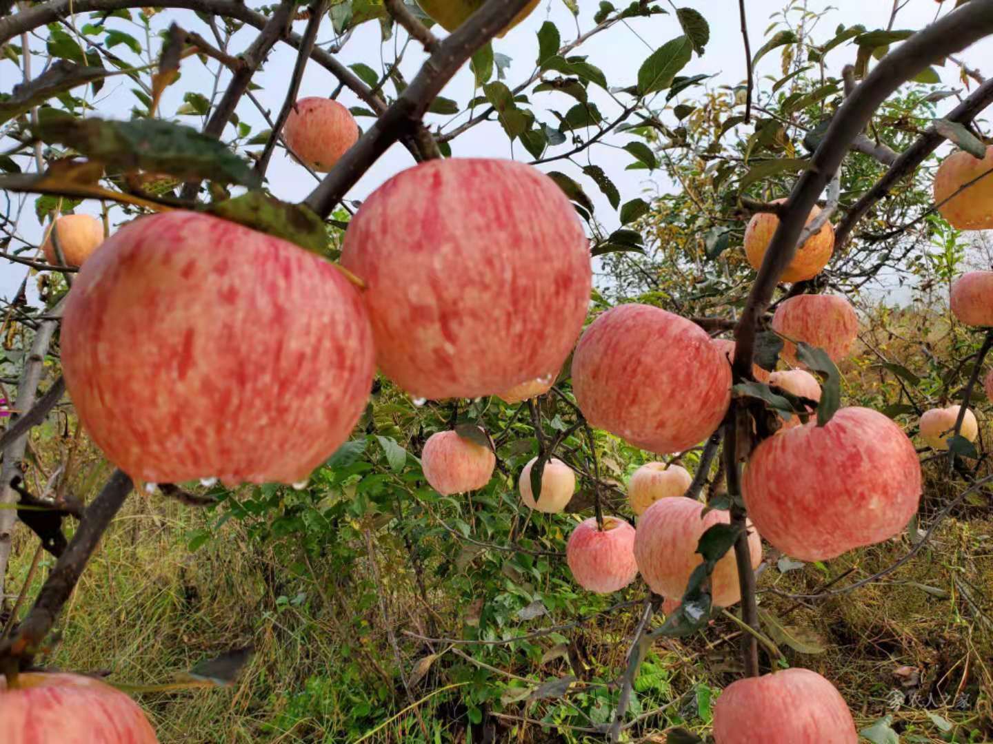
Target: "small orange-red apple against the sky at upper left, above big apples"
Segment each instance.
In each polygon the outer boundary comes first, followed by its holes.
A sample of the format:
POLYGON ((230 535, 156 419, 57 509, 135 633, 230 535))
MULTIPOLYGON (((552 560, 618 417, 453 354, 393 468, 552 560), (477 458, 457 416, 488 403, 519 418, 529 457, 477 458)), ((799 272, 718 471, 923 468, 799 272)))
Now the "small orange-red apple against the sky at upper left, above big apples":
POLYGON ((312 96, 293 104, 283 137, 301 163, 327 172, 355 145, 358 125, 352 112, 338 101, 312 96))

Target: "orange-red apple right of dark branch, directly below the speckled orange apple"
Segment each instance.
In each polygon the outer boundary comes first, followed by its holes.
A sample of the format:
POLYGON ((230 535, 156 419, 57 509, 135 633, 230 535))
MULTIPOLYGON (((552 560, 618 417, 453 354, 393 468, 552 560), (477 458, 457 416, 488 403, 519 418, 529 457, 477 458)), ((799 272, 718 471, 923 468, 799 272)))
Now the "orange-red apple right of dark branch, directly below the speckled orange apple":
MULTIPOLYGON (((839 362, 848 356, 859 334, 859 318, 843 297, 797 295, 783 301, 773 313, 773 330, 793 341, 822 348, 839 362)), ((790 340, 782 342, 782 358, 800 365, 796 345, 790 340)))

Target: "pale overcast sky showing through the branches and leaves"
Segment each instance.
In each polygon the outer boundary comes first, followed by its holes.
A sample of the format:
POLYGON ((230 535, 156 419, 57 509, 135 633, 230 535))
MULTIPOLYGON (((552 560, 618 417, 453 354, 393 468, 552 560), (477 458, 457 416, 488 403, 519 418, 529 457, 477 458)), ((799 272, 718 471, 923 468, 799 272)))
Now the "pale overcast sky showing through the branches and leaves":
MULTIPOLYGON (((616 2, 623 6, 627 0, 616 2)), ((511 59, 511 64, 507 70, 505 82, 512 88, 518 82, 530 75, 534 60, 537 54, 536 32, 545 20, 554 22, 561 31, 563 42, 576 37, 577 30, 583 32, 589 30, 594 25, 593 14, 599 3, 589 0, 580 0, 582 6, 578 19, 573 19, 572 14, 567 10, 562 0, 543 0, 534 13, 522 24, 514 28, 504 39, 497 39, 494 42, 495 51, 506 55, 511 59)), ((748 20, 749 30, 752 39, 753 53, 766 41, 766 33, 770 25, 777 20, 784 0, 748 0, 748 20)), ((801 5, 799 0, 795 5, 801 5)), ((714 74, 708 81, 708 85, 736 85, 744 80, 744 49, 741 37, 741 30, 738 17, 738 3, 735 0, 682 0, 677 2, 678 6, 688 6, 699 10, 709 21, 711 39, 707 45, 706 52, 702 58, 694 56, 693 60, 682 70, 681 74, 695 74, 698 72, 714 74)), ((818 10, 828 5, 825 0, 808 0, 808 7, 811 10, 818 10)), ((867 29, 873 30, 885 28, 892 9, 889 0, 834 0, 830 3, 831 8, 827 10, 818 21, 817 29, 814 31, 814 39, 818 42, 829 40, 834 35, 835 27, 843 23, 847 26, 863 24, 867 29)), ((938 6, 934 0, 909 0, 907 6, 898 16, 896 28, 918 29, 933 20, 935 11, 940 7, 945 12, 953 6, 952 0, 947 0, 938 6)), ((671 6, 665 6, 671 10, 671 6)), ((77 28, 81 28, 88 21, 88 14, 82 14, 75 19, 77 28)), ((178 22, 188 30, 198 31, 207 38, 212 38, 209 28, 202 23, 190 11, 167 11, 160 13, 154 19, 154 29, 164 29, 172 21, 178 22)), ((306 23, 296 22, 294 29, 302 33, 306 23)), ((113 19, 108 21, 108 26, 120 28, 135 36, 139 36, 139 28, 130 25, 125 21, 113 19)), ((444 34, 436 27, 438 34, 444 34)), ((231 41, 229 51, 237 53, 243 50, 256 35, 256 31, 246 28, 239 32, 231 41)), ((607 75, 612 86, 625 86, 634 83, 637 79, 638 66, 655 49, 660 47, 670 39, 679 36, 680 30, 675 20, 674 14, 656 15, 650 19, 634 19, 623 25, 618 25, 609 31, 600 34, 584 44, 573 54, 585 54, 589 56, 590 62, 600 66, 607 75)), ((141 38, 141 37, 139 37, 141 38)), ((394 49, 402 44, 405 39, 404 32, 398 31, 394 34, 386 47, 380 46, 380 32, 378 24, 368 23, 359 27, 352 38, 345 45, 338 57, 348 64, 354 62, 365 62, 373 69, 382 70, 384 63, 391 62, 394 49)), ((144 41, 142 39, 142 41, 144 41)), ((319 42, 324 45, 335 41, 331 25, 326 23, 323 33, 319 36, 319 42)), ((44 49, 43 39, 35 37, 32 39, 32 50, 35 52, 44 49)), ((160 49, 160 42, 153 40, 152 48, 157 55, 160 49)), ((832 72, 837 72, 840 67, 854 60, 854 47, 845 45, 834 50, 827 59, 828 66, 832 72)), ((117 46, 113 50, 121 56, 127 56, 123 46, 117 46)), ((961 59, 972 66, 990 72, 990 66, 986 64, 984 69, 983 61, 993 59, 993 41, 987 40, 975 45, 961 55, 961 59)), ((255 95, 263 106, 275 116, 282 104, 285 89, 290 77, 293 64, 296 59, 296 52, 287 45, 279 44, 269 56, 264 68, 255 74, 254 81, 261 85, 261 89, 255 91, 255 95)), ((401 66, 406 79, 411 79, 424 60, 424 55, 420 52, 416 43, 411 43, 407 49, 404 62, 401 66)), ((35 59, 35 71, 42 68, 44 60, 35 59)), ((182 79, 175 85, 169 87, 163 98, 161 110, 173 112, 183 101, 183 95, 190 90, 196 90, 210 96, 213 89, 213 69, 216 63, 210 62, 209 68, 198 62, 196 58, 188 59, 183 63, 182 79)), ((780 67, 780 50, 770 53, 759 65, 757 73, 759 75, 778 74, 780 67)), ((946 63, 939 72, 944 80, 945 87, 961 87, 958 82, 958 67, 952 63, 946 63)), ((20 81, 21 72, 18 67, 10 61, 0 62, 0 91, 9 92, 14 84, 20 81)), ((221 89, 223 88, 224 77, 221 78, 221 89)), ((465 104, 473 96, 473 76, 468 67, 461 70, 443 91, 443 95, 453 98, 461 104, 465 104)), ((107 117, 127 118, 132 106, 140 105, 137 99, 131 94, 129 88, 133 83, 127 77, 118 76, 108 79, 99 96, 93 101, 91 93, 85 94, 86 99, 93 103, 96 111, 107 117)), ((323 67, 311 62, 307 67, 301 85, 300 96, 320 95, 327 96, 337 86, 337 79, 323 67)), ((592 89, 593 86, 591 86, 592 89)), ((686 98, 699 95, 700 88, 690 88, 686 98)), ((392 92, 392 91, 390 91, 392 92)), ((80 89, 76 93, 82 95, 80 89)), ((340 100, 349 106, 360 105, 355 96, 347 89, 340 96, 340 100)), ((661 100, 657 103, 660 105, 661 100)), ((600 106, 604 116, 608 119, 617 115, 619 109, 606 94, 596 96, 596 101, 600 106)), ((532 96, 535 112, 539 120, 554 125, 555 120, 550 114, 545 115, 547 108, 556 108, 560 111, 567 110, 574 101, 563 94, 558 93, 538 93, 532 96)), ((678 98, 672 103, 678 102, 678 98)), ((954 98, 942 101, 939 106, 940 111, 951 108, 955 103, 954 98)), ((261 115, 247 98, 243 99, 238 109, 238 115, 245 122, 252 125, 254 131, 267 128, 261 115)), ((429 123, 432 127, 438 124, 450 122, 457 125, 464 120, 466 113, 456 117, 442 117, 431 115, 429 123)), ((674 121, 671 114, 668 114, 670 121, 674 121)), ((202 126, 203 121, 198 116, 181 116, 178 120, 193 126, 202 126)), ((372 120, 369 118, 359 118, 360 126, 367 127, 372 120)), ((225 132, 225 139, 229 139, 233 134, 229 127, 225 132)), ((618 145, 623 145, 630 141, 630 136, 618 135, 605 138, 605 144, 598 146, 592 157, 592 162, 603 167, 608 176, 617 184, 621 190, 622 199, 633 198, 641 191, 659 192, 672 189, 672 184, 659 173, 649 174, 647 171, 627 171, 626 167, 633 162, 633 158, 623 150, 617 149, 618 145)), ((0 139, 0 150, 10 149, 10 140, 0 139)), ((530 160, 530 156, 516 144, 511 149, 507 138, 499 130, 497 124, 486 123, 470 130, 467 134, 459 137, 452 143, 454 155, 456 156, 488 156, 488 157, 516 157, 518 159, 530 160)), ((565 150, 563 147, 562 150, 565 150)), ((549 154, 554 154, 550 151, 549 154)), ((585 157, 585 156, 584 156, 585 157)), ((22 168, 28 170, 30 161, 22 161, 22 168)), ((391 148, 379 161, 365 174, 355 188, 350 192, 349 197, 361 199, 370 190, 381 184, 387 178, 400 170, 410 167, 413 162, 407 151, 399 145, 391 148)), ((616 212, 607 203, 599 190, 588 179, 582 177, 576 166, 567 161, 558 161, 554 164, 543 166, 545 170, 560 170, 569 173, 586 188, 587 192, 594 198, 597 206, 597 214, 608 228, 617 226, 618 219, 616 212)), ((285 155, 282 150, 277 150, 273 156, 272 163, 268 171, 269 186, 273 192, 287 200, 302 199, 315 185, 312 177, 299 165, 294 163, 285 155)), ((12 194, 12 198, 17 194, 12 194)), ((16 214, 17 199, 13 202, 16 214)), ((5 202, 0 201, 0 204, 5 202)), ((20 234, 29 241, 38 241, 41 236, 41 227, 34 218, 34 197, 30 197, 21 213, 20 234)), ((0 207, 5 208, 5 207, 0 207)), ((95 202, 84 202, 76 211, 89 211, 96 213, 98 204, 95 202)), ((123 219, 118 215, 118 220, 123 219)), ((22 266, 13 265, 0 261, 0 296, 13 294, 24 278, 26 269, 22 266)))

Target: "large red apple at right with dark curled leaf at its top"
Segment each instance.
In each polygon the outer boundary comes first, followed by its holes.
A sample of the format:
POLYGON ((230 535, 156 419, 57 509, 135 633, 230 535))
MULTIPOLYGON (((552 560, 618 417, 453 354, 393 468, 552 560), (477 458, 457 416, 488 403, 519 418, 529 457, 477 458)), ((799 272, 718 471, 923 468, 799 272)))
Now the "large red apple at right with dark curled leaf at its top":
POLYGON ((823 427, 810 421, 759 444, 742 490, 767 541, 787 556, 824 560, 907 527, 921 499, 921 463, 883 414, 843 408, 823 427))

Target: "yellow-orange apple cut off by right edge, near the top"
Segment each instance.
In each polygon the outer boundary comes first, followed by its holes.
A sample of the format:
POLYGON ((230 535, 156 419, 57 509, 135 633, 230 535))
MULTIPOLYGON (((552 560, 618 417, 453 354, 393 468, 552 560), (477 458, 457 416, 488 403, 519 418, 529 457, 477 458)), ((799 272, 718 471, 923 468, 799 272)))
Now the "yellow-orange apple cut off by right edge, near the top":
POLYGON ((990 209, 993 203, 993 177, 986 176, 991 168, 993 147, 986 148, 983 158, 973 158, 959 151, 941 161, 934 176, 934 202, 939 204, 937 210, 952 227, 959 230, 993 228, 993 209, 990 209), (958 191, 981 176, 984 178, 958 191), (949 196, 951 198, 942 204, 949 196))

